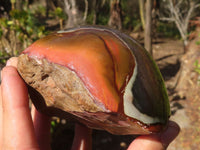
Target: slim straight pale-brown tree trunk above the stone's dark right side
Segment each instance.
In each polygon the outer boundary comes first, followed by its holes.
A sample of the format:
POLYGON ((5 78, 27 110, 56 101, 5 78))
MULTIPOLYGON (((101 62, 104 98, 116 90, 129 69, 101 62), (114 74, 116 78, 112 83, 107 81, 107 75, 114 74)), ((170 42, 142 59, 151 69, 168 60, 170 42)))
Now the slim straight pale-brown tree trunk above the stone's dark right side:
POLYGON ((144 46, 146 50, 153 56, 152 39, 151 39, 151 18, 152 18, 151 10, 152 10, 152 0, 147 0, 144 46))

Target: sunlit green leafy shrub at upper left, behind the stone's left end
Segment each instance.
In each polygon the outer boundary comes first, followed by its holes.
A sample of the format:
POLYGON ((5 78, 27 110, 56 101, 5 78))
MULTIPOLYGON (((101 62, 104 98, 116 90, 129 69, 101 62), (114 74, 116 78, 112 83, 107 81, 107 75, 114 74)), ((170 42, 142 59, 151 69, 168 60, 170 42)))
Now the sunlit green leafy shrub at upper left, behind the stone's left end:
POLYGON ((35 11, 29 9, 28 5, 23 5, 22 10, 12 9, 9 14, 0 18, 1 59, 18 55, 28 45, 47 33, 35 11), (8 47, 11 50, 8 51, 8 47))

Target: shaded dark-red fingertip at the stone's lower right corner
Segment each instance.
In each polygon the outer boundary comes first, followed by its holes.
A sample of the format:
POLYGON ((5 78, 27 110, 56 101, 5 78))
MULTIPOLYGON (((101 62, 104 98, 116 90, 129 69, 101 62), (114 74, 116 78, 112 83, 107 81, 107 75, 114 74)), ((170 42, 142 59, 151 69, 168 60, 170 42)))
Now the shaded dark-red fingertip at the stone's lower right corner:
POLYGON ((173 121, 170 121, 167 129, 161 135, 161 142, 164 147, 167 147, 179 134, 180 127, 173 121))

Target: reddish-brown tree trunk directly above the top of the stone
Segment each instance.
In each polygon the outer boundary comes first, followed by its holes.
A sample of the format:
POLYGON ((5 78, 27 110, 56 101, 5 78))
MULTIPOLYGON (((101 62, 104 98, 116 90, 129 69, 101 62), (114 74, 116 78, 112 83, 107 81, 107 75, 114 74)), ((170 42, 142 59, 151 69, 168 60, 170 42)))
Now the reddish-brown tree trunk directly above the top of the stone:
POLYGON ((108 25, 120 30, 122 28, 120 0, 111 0, 110 4, 108 25))

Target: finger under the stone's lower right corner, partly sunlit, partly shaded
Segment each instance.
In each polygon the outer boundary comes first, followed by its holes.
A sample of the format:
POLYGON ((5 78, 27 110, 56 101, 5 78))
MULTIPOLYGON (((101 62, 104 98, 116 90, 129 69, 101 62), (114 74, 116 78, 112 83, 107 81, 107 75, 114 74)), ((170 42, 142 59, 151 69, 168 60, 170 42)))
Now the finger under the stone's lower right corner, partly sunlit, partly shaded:
POLYGON ((165 150, 179 132, 180 127, 170 121, 165 131, 158 135, 139 136, 131 143, 128 150, 165 150))

